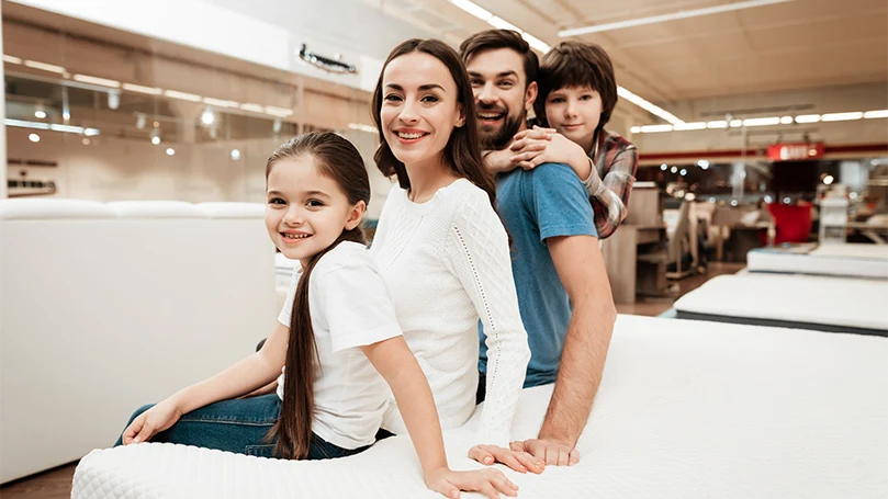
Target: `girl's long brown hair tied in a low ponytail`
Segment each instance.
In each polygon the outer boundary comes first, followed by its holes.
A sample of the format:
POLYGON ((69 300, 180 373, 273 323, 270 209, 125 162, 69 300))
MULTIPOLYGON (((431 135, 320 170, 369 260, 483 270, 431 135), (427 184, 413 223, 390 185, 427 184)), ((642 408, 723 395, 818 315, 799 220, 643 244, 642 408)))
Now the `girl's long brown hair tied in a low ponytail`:
MULTIPOLYGON (((329 132, 313 132, 284 143, 268 158, 266 180, 276 162, 303 155, 312 156, 318 172, 339 184, 350 204, 370 203, 370 180, 360 152, 351 143, 329 132)), ((296 284, 290 315, 281 416, 268 434, 269 441, 277 439, 274 454, 278 457, 302 460, 311 449, 317 345, 308 310, 308 281, 321 258, 342 241, 367 245, 360 226, 344 229, 333 245, 311 258, 296 284)))

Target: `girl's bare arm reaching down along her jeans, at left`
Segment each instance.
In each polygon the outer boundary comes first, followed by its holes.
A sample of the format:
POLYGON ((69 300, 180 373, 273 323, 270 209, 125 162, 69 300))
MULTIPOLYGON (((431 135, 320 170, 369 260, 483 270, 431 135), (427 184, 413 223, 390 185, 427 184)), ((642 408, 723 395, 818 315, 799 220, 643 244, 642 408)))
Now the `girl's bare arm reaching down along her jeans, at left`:
POLYGON ((281 374, 290 328, 278 324, 266 344, 221 373, 177 392, 139 415, 123 432, 123 444, 145 442, 203 406, 236 398, 260 388, 281 374))

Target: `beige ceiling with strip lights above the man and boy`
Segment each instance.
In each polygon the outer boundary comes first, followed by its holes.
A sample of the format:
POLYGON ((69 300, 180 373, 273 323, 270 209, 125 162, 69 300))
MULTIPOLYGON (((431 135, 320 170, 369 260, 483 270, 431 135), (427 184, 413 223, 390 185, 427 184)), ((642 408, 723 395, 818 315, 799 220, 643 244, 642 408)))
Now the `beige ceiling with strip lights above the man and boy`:
MULTIPOLYGON (((448 0, 366 0, 458 44, 491 27, 448 0)), ((562 30, 738 0, 476 0, 549 45, 562 30)), ((743 3, 746 3, 745 1, 743 3)), ((888 81, 888 1, 791 0, 581 35, 618 82, 662 106, 700 98, 888 81)))

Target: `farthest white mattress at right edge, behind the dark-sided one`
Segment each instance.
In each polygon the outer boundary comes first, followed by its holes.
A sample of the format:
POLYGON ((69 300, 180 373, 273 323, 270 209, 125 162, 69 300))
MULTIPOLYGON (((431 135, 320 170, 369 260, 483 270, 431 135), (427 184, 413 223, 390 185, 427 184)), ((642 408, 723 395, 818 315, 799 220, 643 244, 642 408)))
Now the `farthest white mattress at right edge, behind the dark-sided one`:
POLYGON ((888 279, 888 246, 821 245, 808 252, 756 249, 746 254, 750 272, 888 279))

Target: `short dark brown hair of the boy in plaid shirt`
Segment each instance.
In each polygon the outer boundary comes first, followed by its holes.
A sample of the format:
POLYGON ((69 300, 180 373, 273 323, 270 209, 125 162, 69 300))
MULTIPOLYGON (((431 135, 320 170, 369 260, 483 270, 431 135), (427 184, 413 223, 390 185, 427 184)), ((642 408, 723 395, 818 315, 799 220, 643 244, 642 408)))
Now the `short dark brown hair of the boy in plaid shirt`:
POLYGON ((533 111, 541 124, 546 123, 546 100, 555 90, 565 87, 589 87, 602 97, 602 118, 596 136, 610 120, 617 105, 617 79, 614 65, 604 48, 582 42, 561 42, 542 56, 539 94, 533 111))

